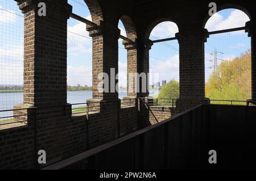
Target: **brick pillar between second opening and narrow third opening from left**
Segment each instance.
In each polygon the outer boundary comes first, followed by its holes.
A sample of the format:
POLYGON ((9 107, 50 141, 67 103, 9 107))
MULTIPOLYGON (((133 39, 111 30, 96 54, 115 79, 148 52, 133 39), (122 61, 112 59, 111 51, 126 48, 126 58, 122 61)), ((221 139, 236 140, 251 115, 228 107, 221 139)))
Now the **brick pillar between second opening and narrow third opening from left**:
POLYGON ((93 99, 90 102, 101 102, 102 100, 118 100, 118 92, 115 85, 118 79, 118 39, 120 30, 104 24, 102 21, 98 27, 86 26, 89 36, 93 39, 93 99), (110 74, 114 69, 114 74, 110 74), (103 81, 103 73, 108 74, 108 85, 103 81), (111 81, 112 79, 112 81, 111 81), (108 86, 108 92, 98 89, 99 85, 104 82, 104 87, 108 86))

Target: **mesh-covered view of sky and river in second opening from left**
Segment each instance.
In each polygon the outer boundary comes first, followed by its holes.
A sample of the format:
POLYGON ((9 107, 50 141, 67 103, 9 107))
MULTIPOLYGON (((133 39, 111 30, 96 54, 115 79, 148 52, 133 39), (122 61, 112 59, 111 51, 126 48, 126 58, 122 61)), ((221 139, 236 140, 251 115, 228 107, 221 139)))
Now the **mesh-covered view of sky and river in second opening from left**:
MULTIPOLYGON (((73 13, 91 20, 84 1, 68 2, 73 6, 73 13)), ((68 20, 67 61, 67 102, 85 103, 92 98, 92 37, 86 31, 86 24, 73 18, 68 20)))

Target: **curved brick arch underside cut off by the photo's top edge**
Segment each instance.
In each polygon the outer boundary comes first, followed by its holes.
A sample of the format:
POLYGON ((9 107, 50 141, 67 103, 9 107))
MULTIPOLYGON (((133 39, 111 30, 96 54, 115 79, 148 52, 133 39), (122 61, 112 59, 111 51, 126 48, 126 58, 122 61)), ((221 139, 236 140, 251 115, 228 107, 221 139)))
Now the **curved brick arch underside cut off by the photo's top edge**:
POLYGON ((100 25, 100 22, 104 20, 100 3, 97 0, 84 0, 84 2, 88 6, 92 21, 100 25))

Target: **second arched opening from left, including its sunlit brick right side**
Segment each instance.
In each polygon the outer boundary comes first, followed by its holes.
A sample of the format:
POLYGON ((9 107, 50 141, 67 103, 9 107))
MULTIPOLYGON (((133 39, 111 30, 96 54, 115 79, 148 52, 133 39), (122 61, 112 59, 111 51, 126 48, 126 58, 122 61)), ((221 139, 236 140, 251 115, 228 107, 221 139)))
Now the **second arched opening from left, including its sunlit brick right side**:
MULTIPOLYGON (((97 25, 103 20, 100 5, 93 0, 69 0, 73 14, 88 19, 97 25)), ((90 36, 88 26, 75 18, 68 20, 68 71, 67 102, 76 104, 72 112, 85 111, 85 105, 98 96, 97 75, 102 66, 97 65, 97 58, 102 54, 97 49, 103 46, 102 36, 90 36)), ((103 48, 100 48, 103 51, 103 48)), ((100 61, 101 62, 101 61, 100 61)))

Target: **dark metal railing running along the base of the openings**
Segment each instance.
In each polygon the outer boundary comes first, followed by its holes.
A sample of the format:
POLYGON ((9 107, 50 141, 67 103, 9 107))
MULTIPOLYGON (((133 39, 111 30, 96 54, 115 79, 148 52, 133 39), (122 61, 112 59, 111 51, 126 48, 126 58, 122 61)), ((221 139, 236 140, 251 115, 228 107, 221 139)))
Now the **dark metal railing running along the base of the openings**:
MULTIPOLYGON (((106 108, 106 104, 112 103, 115 104, 117 103, 118 108, 129 108, 129 107, 138 107, 139 104, 145 104, 147 106, 168 106, 171 107, 172 110, 175 110, 176 108, 176 99, 168 99, 168 98, 131 98, 131 99, 122 99, 122 100, 109 100, 109 101, 101 101, 101 102, 86 102, 86 103, 75 103, 71 104, 71 111, 72 115, 81 115, 81 114, 86 114, 86 116, 89 116, 89 113, 91 112, 100 112, 101 109, 106 108), (139 103, 141 102, 141 103, 139 103), (97 105, 98 104, 98 105, 97 105)), ((246 106, 247 102, 245 100, 210 100, 210 104, 229 104, 229 105, 237 105, 237 106, 246 106)), ((58 106, 51 106, 52 108, 56 108, 58 106)), ((43 108, 51 108, 51 107, 40 107, 42 110, 43 108)), ((36 109, 39 107, 30 107, 30 108, 20 108, 20 109, 13 109, 13 110, 0 110, 0 113, 3 112, 14 112, 14 111, 26 111, 28 112, 29 110, 34 110, 30 112, 35 112, 36 109)), ((66 111, 66 106, 64 106, 64 112, 66 111)), ((60 110, 61 112, 61 110, 60 110)), ((40 112, 43 113, 43 112, 40 112)), ((44 112, 47 113, 47 112, 44 112)), ((26 121, 14 121, 16 117, 21 117, 21 116, 31 116, 33 113, 24 113, 24 114, 19 114, 19 115, 7 115, 7 116, 2 116, 0 117, 0 126, 3 125, 9 125, 9 124, 14 124, 14 123, 25 123, 29 120, 26 121)), ((65 113, 64 113, 65 115, 65 113)), ((33 115, 35 117, 35 115, 33 115)))

